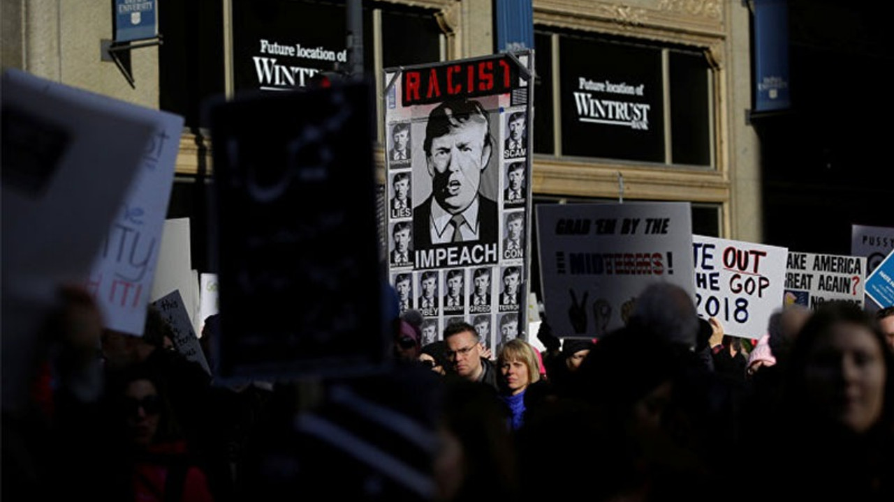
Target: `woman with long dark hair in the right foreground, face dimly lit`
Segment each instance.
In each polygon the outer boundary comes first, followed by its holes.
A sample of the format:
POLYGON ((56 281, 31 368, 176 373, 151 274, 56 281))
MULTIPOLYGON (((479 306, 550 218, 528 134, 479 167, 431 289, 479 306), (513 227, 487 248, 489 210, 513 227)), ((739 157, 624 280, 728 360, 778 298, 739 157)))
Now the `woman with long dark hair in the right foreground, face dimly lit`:
POLYGON ((814 312, 780 406, 769 456, 786 474, 780 499, 894 500, 894 356, 868 314, 844 302, 814 312))

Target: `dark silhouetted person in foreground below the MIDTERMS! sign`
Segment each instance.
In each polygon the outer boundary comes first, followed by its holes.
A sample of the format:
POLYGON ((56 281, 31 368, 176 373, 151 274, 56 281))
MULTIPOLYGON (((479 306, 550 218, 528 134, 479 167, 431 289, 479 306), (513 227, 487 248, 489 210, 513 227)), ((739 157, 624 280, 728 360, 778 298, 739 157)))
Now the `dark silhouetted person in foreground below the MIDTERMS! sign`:
POLYGON ((600 339, 581 364, 576 389, 593 406, 601 438, 593 499, 707 498, 716 473, 704 394, 689 376, 696 356, 675 343, 628 326, 600 339))

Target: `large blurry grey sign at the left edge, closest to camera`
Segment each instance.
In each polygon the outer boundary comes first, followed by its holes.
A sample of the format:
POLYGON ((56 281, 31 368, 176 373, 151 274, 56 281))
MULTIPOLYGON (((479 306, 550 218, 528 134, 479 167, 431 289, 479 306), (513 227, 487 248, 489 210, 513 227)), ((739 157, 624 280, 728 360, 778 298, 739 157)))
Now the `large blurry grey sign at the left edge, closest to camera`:
POLYGON ((2 97, 3 404, 21 404, 58 288, 80 283, 138 171, 157 113, 23 71, 2 97))

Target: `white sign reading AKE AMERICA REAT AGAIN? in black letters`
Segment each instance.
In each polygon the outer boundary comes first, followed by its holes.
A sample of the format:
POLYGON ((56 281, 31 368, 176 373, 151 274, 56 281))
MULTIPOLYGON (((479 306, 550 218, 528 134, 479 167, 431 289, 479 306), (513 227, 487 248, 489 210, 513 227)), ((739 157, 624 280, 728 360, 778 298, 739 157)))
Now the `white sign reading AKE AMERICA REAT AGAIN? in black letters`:
POLYGON ((845 300, 862 308, 865 271, 863 256, 789 251, 784 302, 816 308, 830 300, 845 300))

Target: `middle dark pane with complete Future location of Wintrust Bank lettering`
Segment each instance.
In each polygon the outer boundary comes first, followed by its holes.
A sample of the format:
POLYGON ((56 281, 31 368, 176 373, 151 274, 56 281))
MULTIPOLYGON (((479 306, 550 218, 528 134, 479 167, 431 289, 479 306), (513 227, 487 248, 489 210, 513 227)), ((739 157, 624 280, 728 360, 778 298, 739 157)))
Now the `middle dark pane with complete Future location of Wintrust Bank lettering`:
POLYGON ((562 154, 663 162, 661 51, 562 38, 561 54, 562 154))

